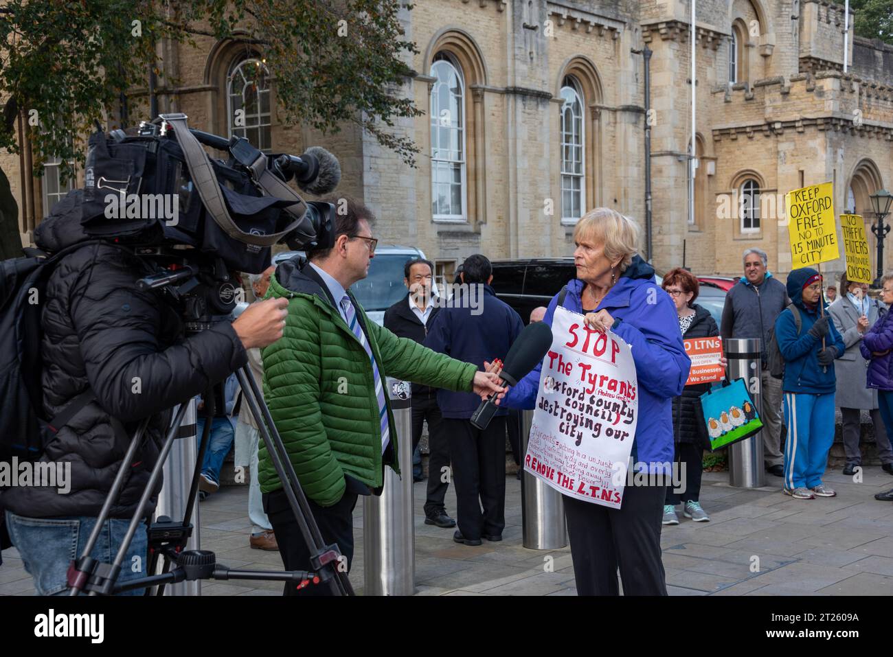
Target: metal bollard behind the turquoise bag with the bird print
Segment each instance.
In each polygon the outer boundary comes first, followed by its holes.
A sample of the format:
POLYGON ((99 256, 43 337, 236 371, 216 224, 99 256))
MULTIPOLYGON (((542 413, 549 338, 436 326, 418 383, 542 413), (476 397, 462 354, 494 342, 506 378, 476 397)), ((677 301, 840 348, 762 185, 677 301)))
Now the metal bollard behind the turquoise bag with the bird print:
MULTIPOLYGON (((760 359, 762 340, 729 338, 723 343, 729 360, 728 378, 743 378, 747 391, 763 417, 763 365, 760 359)), ((766 485, 763 466, 763 431, 747 440, 729 445, 729 485, 738 488, 759 488, 766 485)))

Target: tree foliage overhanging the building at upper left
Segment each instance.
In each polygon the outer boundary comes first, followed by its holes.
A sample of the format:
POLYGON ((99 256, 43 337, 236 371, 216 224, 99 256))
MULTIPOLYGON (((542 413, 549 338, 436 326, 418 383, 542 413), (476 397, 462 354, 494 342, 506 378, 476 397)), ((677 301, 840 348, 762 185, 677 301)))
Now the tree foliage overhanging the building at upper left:
MULTIPOLYGON (((95 121, 117 127, 122 93, 129 92, 131 122, 147 116, 148 71, 162 72, 154 47, 162 38, 192 47, 198 37, 227 39, 265 58, 284 122, 333 132, 355 121, 413 164, 412 139, 387 129, 396 118, 421 114, 394 93, 410 72, 405 54, 417 52, 403 39, 399 6, 400 0, 12 0, 0 8, 7 44, 0 51, 0 97, 13 98, 26 121, 38 122, 29 138, 40 175, 39 154, 83 162, 82 139, 95 121)), ((0 128, 0 148, 18 152, 9 126, 0 128)))

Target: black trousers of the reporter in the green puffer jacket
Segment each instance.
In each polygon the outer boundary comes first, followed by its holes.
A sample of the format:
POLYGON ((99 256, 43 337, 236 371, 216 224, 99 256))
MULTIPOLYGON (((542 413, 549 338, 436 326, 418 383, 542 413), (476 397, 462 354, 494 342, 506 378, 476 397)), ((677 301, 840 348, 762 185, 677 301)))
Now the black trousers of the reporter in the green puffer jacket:
MULTIPOLYGON (((337 543, 341 553, 347 557, 347 571, 354 561, 354 507, 356 493, 346 492, 333 506, 320 506, 307 499, 313 511, 313 518, 320 527, 322 540, 326 545, 337 543)), ((279 544, 280 556, 285 570, 312 570, 310 565, 310 548, 307 546, 301 529, 295 520, 295 514, 288 506, 285 491, 277 490, 263 495, 263 511, 273 526, 276 543, 279 544)), ((282 595, 332 595, 328 584, 310 585, 297 590, 294 584, 286 582, 282 595)))

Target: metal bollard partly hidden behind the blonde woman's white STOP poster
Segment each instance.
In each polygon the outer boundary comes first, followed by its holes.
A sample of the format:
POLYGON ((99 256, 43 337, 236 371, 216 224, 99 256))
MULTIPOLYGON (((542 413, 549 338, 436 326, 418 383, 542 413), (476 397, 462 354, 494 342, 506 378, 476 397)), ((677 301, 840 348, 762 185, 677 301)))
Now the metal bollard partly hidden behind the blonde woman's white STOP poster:
MULTIPOLYGON (((521 453, 527 453, 533 411, 521 414, 521 453)), ((556 550, 567 545, 567 523, 561 493, 546 482, 522 471, 521 507, 524 547, 529 550, 556 550)))

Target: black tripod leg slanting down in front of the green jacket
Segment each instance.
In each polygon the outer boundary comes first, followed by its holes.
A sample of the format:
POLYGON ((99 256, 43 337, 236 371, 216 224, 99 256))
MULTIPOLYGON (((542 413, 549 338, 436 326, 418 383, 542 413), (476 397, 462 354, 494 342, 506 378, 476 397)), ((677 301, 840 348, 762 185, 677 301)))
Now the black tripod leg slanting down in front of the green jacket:
MULTIPOLYGON (((295 514, 295 520, 298 528, 301 530, 301 535, 304 536, 311 553, 319 553, 320 549, 326 545, 325 541, 322 539, 320 528, 313 518, 313 511, 310 510, 310 505, 307 503, 307 498, 297 479, 295 469, 292 467, 291 461, 288 460, 288 452, 285 449, 285 445, 282 444, 282 438, 276 425, 273 423, 270 409, 263 402, 263 395, 257 388, 255 378, 248 366, 246 365, 237 370, 236 375, 245 395, 245 401, 248 403, 248 407, 255 419, 258 420, 258 430, 261 437, 263 437, 267 451, 270 453, 276 474, 282 482, 283 490, 288 497, 288 504, 295 514)), ((329 580, 332 593, 336 595, 354 595, 353 586, 351 586, 346 572, 338 570, 338 565, 331 566, 335 573, 335 576, 329 580)))

